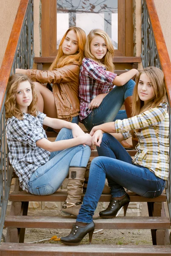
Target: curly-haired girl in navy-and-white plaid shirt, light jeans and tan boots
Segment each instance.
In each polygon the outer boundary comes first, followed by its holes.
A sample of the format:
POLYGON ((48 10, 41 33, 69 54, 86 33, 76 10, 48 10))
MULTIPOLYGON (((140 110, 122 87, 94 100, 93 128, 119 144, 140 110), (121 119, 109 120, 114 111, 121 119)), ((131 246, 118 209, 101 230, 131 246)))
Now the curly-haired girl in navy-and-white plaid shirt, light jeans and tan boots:
POLYGON ((39 112, 37 102, 34 83, 28 76, 9 78, 5 106, 10 163, 20 187, 34 195, 54 193, 69 173, 64 206, 70 206, 68 215, 77 215, 92 137, 76 123, 39 112), (43 125, 61 129, 55 142, 47 140, 43 125))

